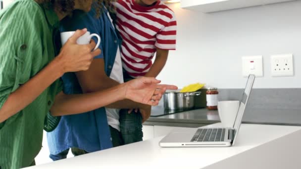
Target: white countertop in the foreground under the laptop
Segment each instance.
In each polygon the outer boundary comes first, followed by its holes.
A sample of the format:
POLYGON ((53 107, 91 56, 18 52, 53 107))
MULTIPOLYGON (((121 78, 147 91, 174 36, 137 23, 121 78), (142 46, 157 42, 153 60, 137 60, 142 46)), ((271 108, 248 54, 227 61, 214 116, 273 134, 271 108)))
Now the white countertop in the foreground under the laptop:
MULTIPOLYGON (((220 123, 208 127, 212 126, 218 127, 220 123)), ((232 147, 161 148, 158 146, 161 139, 158 137, 32 168, 219 169, 219 165, 228 165, 232 169, 301 168, 301 164, 296 163, 301 157, 301 144, 298 144, 301 142, 301 127, 242 124, 237 142, 232 147)))

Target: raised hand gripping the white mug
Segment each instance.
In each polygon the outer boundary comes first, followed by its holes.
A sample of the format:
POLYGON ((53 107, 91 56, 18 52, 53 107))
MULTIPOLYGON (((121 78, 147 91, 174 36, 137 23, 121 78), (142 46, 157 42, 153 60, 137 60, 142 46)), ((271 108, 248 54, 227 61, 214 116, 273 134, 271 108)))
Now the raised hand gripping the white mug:
POLYGON ((87 29, 77 30, 72 37, 63 45, 59 59, 63 72, 78 72, 88 70, 93 58, 100 54, 100 49, 92 51, 95 42, 91 40, 89 44, 77 44, 77 39, 84 35, 87 29))

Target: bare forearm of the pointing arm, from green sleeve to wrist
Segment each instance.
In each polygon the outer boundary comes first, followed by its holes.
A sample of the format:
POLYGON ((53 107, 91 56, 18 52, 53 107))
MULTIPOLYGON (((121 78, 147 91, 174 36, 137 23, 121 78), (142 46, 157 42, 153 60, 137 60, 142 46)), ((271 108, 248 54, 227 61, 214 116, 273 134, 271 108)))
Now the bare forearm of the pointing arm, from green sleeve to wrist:
POLYGON ((124 84, 120 84, 92 93, 73 95, 60 93, 55 97, 50 112, 53 116, 63 116, 95 110, 109 103, 125 99, 125 90, 124 84))

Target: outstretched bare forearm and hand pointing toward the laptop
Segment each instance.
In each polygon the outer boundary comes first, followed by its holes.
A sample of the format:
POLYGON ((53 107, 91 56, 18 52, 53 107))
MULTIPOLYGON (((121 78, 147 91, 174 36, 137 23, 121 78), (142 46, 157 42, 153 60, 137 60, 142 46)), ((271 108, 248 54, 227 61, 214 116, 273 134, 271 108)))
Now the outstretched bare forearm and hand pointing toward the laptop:
POLYGON ((175 85, 158 84, 159 80, 142 77, 98 92, 55 97, 50 109, 53 116, 79 114, 108 105, 122 99, 155 106, 166 89, 177 89, 175 85))

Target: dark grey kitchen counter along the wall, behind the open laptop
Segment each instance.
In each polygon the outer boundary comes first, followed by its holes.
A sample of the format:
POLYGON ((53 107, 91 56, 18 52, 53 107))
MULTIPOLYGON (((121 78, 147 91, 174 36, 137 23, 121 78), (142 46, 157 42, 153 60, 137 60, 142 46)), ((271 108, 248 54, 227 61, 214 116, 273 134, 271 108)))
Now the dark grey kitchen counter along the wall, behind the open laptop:
MULTIPOLYGON (((164 110, 162 104, 152 108, 164 110)), ((220 122, 217 110, 195 109, 170 115, 150 117, 143 125, 172 127, 201 127, 220 122)), ((301 112, 298 110, 246 108, 243 123, 301 126, 301 112)))

